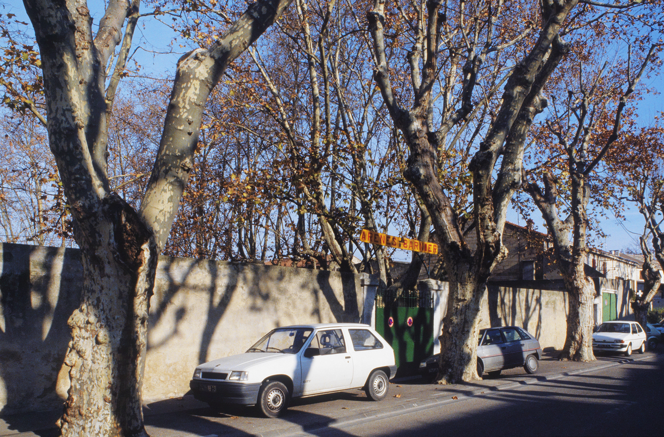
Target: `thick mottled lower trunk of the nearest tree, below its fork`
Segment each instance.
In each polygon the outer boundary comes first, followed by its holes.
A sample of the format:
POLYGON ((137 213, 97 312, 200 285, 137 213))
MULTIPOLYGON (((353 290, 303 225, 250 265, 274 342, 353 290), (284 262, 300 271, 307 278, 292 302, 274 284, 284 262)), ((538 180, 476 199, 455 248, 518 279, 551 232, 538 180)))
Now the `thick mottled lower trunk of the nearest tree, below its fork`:
POLYGON ((149 298, 157 247, 136 213, 118 196, 100 216, 80 223, 84 281, 68 320, 64 361, 71 387, 59 425, 64 436, 143 436, 142 379, 149 298), (96 231, 92 231, 92 229, 96 231))

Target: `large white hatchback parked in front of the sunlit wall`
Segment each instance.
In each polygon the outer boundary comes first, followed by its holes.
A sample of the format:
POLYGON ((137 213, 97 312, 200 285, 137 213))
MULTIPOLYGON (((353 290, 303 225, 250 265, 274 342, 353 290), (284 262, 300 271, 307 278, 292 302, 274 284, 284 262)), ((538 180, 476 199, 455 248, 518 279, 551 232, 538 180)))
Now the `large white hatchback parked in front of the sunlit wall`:
POLYGON ((256 405, 278 417, 291 397, 363 387, 380 401, 395 373, 392 347, 368 325, 297 325, 270 331, 245 353, 199 365, 189 387, 212 408, 256 405))

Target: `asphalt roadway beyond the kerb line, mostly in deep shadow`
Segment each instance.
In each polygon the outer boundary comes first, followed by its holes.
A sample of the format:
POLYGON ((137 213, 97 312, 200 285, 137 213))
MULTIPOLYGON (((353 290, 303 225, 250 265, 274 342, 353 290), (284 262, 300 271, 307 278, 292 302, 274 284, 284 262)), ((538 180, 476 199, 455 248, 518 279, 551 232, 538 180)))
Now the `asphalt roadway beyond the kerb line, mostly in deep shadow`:
POLYGON ((663 358, 538 381, 440 408, 297 435, 663 436, 663 358))

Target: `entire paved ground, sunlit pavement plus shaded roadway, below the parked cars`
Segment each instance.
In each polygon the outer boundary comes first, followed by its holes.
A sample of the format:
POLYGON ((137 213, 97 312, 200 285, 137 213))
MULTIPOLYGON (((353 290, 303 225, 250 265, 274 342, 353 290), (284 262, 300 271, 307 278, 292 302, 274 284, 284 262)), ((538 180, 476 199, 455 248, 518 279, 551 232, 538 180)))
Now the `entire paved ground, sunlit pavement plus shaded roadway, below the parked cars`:
MULTIPOLYGON (((149 403, 153 437, 282 436, 664 436, 664 351, 592 363, 540 361, 466 385, 420 378, 390 384, 373 402, 353 390, 291 401, 278 419, 251 407, 215 412, 190 396, 149 403)), ((0 418, 0 436, 50 437, 59 412, 0 418)))

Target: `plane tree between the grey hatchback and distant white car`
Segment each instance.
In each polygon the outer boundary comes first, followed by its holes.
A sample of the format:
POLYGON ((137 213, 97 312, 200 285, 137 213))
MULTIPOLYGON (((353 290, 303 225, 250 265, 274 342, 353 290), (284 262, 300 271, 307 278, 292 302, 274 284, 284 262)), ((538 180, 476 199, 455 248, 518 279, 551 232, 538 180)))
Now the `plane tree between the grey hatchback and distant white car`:
POLYGON ((592 330, 596 293, 585 271, 588 204, 592 197, 602 206, 602 198, 614 192, 608 188, 611 179, 602 178, 598 171, 622 135, 623 118, 635 117, 627 102, 654 52, 655 46, 651 46, 635 71, 630 68, 631 59, 624 68, 616 66, 611 72, 605 71, 606 64, 597 70, 592 70, 592 64, 569 68, 568 72, 576 74, 563 79, 557 90, 550 90, 557 98, 552 98, 554 105, 546 123, 533 135, 533 149, 539 154, 533 153, 537 165, 524 171, 523 190, 544 218, 567 291, 569 312, 561 359, 595 359, 592 330))

